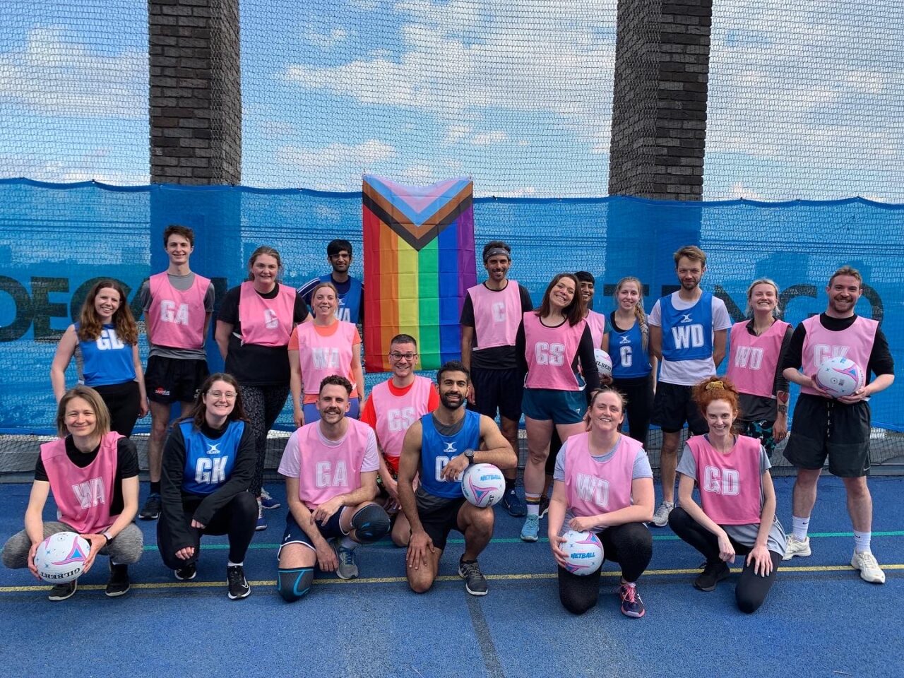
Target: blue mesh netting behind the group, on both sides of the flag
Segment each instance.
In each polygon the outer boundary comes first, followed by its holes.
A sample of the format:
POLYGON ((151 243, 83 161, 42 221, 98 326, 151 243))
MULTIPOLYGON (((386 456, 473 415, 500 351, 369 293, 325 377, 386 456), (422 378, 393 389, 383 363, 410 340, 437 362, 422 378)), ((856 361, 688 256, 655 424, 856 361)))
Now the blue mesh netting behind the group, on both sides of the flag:
MULTIPOLYGON (((649 286, 649 309, 674 288, 672 252, 689 243, 709 254, 705 287, 736 320, 760 276, 784 290, 789 322, 824 310, 826 281, 849 263, 869 285, 858 312, 881 320, 898 363, 904 353, 904 205, 481 198, 475 221, 478 251, 486 240, 511 243, 512 277, 535 299, 554 273, 583 268, 598 278, 601 311, 612 304, 606 287, 626 275, 649 286)), ((324 271, 325 243, 334 237, 361 252, 360 193, 0 181, 0 431, 52 431, 52 355, 91 279, 118 278, 132 301, 141 282, 165 268, 160 237, 171 222, 195 230, 192 268, 214 278, 218 297, 244 278, 261 244, 281 252, 291 285, 324 271)), ((353 273, 363 275, 360 257, 353 273)), ((220 364, 215 348, 210 357, 212 367, 220 364)), ((904 430, 896 387, 872 401, 872 412, 873 426, 904 430)), ((290 427, 288 411, 279 423, 290 427)))

